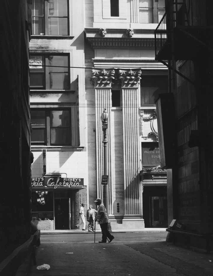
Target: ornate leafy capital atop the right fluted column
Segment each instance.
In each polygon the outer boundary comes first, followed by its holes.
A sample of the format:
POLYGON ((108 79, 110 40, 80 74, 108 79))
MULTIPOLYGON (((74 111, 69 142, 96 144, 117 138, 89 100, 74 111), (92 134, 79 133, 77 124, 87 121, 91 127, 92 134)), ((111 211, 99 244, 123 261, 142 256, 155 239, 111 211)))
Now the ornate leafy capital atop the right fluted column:
POLYGON ((141 80, 141 70, 138 71, 132 71, 131 69, 129 70, 119 70, 118 75, 119 79, 121 81, 121 85, 123 87, 137 87, 138 83, 141 80))

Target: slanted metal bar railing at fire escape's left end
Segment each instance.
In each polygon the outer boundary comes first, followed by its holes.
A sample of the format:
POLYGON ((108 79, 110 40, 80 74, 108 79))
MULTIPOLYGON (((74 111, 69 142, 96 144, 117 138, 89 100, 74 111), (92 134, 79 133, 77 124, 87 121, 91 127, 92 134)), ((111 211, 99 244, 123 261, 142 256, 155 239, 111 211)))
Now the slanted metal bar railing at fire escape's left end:
POLYGON ((155 57, 162 50, 167 42, 167 14, 165 13, 154 31, 155 36, 155 57))

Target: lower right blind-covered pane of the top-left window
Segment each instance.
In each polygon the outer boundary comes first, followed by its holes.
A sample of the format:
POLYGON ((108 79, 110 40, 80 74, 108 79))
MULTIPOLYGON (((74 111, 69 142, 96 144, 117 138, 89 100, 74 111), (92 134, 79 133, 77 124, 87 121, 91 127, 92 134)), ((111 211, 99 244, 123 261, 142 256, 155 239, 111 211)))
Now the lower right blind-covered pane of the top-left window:
POLYGON ((67 18, 50 17, 49 35, 68 35, 67 18))

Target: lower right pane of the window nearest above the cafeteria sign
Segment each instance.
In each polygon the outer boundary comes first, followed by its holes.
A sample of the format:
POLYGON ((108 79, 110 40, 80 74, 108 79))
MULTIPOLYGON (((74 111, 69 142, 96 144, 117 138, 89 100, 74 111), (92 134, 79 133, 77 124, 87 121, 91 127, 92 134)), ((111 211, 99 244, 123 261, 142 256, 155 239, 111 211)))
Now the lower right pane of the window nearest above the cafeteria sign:
POLYGON ((51 128, 51 145, 70 145, 70 128, 51 128))

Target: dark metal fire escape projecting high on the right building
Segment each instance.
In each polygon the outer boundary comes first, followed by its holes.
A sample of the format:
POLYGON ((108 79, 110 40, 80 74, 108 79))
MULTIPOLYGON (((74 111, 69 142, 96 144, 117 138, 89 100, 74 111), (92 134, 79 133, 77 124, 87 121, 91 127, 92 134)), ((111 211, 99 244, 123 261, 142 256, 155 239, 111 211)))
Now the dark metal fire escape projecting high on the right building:
POLYGON ((213 51, 212 26, 195 20, 191 7, 187 7, 184 0, 168 1, 166 12, 154 35, 155 59, 190 82, 191 80, 175 70, 176 61, 195 60, 203 51, 213 51))

